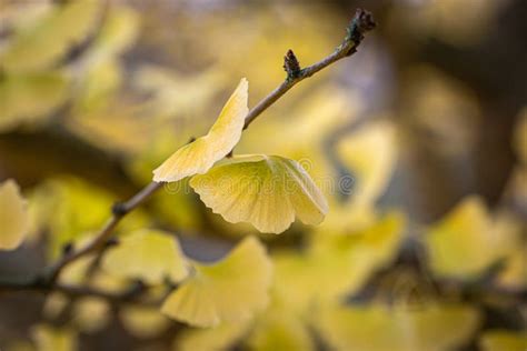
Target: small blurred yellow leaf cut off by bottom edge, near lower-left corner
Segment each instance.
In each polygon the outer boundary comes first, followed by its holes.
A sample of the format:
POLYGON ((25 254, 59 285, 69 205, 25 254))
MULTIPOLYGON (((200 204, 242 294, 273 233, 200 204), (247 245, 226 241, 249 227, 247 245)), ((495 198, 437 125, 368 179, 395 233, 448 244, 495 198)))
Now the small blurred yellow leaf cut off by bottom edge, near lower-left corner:
POLYGON ((74 351, 77 337, 70 329, 56 329, 39 324, 32 330, 38 351, 74 351))

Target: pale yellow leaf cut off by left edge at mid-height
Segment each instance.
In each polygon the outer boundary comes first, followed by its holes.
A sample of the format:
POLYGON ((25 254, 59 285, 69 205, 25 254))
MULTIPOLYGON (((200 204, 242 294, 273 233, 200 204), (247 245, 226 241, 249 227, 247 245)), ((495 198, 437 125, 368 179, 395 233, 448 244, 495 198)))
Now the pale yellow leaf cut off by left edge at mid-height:
POLYGON ((0 183, 0 250, 13 250, 24 239, 29 228, 26 200, 13 180, 0 183))

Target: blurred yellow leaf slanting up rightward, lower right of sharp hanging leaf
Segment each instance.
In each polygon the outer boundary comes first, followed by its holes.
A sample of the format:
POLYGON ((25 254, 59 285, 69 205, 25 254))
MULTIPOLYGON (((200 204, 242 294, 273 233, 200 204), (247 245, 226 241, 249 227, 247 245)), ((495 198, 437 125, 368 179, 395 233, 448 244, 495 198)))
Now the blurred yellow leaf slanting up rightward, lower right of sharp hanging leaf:
POLYGON ((392 212, 368 229, 347 235, 314 233, 302 252, 275 251, 274 301, 304 313, 357 292, 376 270, 394 260, 405 227, 406 218, 392 212))

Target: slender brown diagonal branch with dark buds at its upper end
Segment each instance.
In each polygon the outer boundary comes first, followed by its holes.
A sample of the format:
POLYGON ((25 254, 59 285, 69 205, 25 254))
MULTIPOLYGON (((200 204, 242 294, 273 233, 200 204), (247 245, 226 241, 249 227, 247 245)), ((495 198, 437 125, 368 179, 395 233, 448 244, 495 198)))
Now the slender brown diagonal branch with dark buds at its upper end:
MULTIPOLYGON (((272 92, 264 98, 259 103, 252 108, 246 117, 246 123, 243 130, 249 127, 251 122, 256 120, 265 110, 272 106, 279 100, 289 89, 321 71, 326 67, 351 56, 357 51, 357 47, 364 39, 364 34, 375 28, 375 22, 371 13, 368 11, 358 9, 354 16, 354 19, 347 28, 347 36, 342 43, 325 59, 300 69, 295 53, 289 50, 285 58, 284 68, 287 71, 286 80, 278 86, 272 92)), ((57 282, 62 270, 71 262, 93 252, 97 252, 105 248, 108 240, 111 238, 113 230, 119 222, 128 214, 133 211, 137 207, 149 199, 157 190, 159 190, 163 183, 151 182, 140 190, 130 200, 118 203, 112 209, 112 217, 106 223, 106 225, 99 231, 95 239, 87 245, 74 250, 70 248, 64 252, 61 259, 59 259, 52 265, 46 268, 42 272, 37 275, 22 278, 22 279, 1 279, 0 278, 0 291, 13 291, 13 290, 33 290, 33 291, 52 291, 58 290, 69 295, 98 295, 107 300, 120 300, 122 295, 109 294, 99 290, 93 290, 87 287, 70 287, 63 285, 57 282)))

